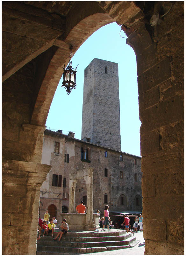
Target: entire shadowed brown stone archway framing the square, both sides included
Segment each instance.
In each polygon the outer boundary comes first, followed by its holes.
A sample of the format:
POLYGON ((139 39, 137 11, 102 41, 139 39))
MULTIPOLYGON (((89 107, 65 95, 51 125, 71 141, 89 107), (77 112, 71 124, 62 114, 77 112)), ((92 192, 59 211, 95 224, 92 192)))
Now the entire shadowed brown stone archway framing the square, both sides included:
POLYGON ((10 233, 8 243, 2 238, 3 254, 36 251, 39 188, 50 170, 40 164, 43 132, 69 45, 75 52, 113 21, 124 25, 137 57, 145 253, 182 254, 183 7, 184 2, 3 2, 2 232, 10 233), (156 12, 162 22, 152 27, 156 12), (20 216, 25 221, 18 226, 20 216), (148 229, 153 221, 156 233, 148 229), (15 236, 17 230, 23 235, 15 236))

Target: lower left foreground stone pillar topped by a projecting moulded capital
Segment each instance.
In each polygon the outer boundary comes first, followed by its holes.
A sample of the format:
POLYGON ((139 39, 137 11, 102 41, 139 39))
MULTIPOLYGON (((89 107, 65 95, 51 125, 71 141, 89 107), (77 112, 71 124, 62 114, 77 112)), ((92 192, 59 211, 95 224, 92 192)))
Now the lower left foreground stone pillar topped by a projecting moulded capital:
POLYGON ((2 165, 2 254, 36 254, 40 186, 51 166, 5 159, 2 165))

